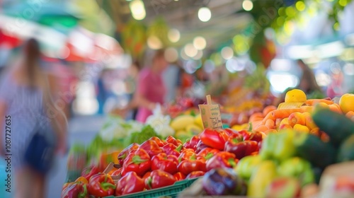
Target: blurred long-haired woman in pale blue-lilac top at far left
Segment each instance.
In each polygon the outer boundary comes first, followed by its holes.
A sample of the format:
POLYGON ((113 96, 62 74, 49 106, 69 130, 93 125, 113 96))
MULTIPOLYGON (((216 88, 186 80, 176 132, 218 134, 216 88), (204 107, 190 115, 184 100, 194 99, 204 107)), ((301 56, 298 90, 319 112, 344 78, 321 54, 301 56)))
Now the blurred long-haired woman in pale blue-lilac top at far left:
POLYGON ((56 81, 40 67, 40 46, 36 40, 25 42, 23 57, 18 61, 9 67, 0 83, 1 155, 12 154, 11 173, 16 182, 16 190, 12 190, 16 197, 40 198, 45 197, 46 175, 25 163, 26 148, 39 127, 56 141, 57 153, 66 153, 67 120, 57 104, 56 81), (9 133, 6 126, 11 127, 11 150, 5 150, 5 136, 9 133))

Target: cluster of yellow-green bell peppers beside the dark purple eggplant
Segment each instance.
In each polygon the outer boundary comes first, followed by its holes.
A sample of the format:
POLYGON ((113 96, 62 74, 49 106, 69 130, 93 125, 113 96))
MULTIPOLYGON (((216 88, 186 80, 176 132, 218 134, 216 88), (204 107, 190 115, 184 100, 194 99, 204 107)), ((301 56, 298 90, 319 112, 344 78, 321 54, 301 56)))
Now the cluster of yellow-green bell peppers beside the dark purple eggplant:
POLYGON ((270 186, 279 177, 295 179, 299 187, 315 182, 311 163, 296 156, 292 143, 294 134, 292 131, 268 134, 259 155, 246 156, 239 161, 234 170, 247 181, 247 196, 270 196, 270 186))

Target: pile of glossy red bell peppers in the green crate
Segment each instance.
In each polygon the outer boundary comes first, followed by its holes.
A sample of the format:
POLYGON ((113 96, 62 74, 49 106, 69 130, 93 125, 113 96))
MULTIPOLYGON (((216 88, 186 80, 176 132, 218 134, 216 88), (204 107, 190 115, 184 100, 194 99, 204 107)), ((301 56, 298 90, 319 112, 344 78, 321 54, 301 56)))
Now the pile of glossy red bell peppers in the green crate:
MULTIPOLYGON (((173 136, 166 139, 154 136, 117 154, 114 162, 121 168, 104 174, 101 168, 91 165, 81 173, 86 183, 70 185, 77 186, 75 193, 81 193, 81 197, 120 196, 165 187, 216 168, 236 168, 241 158, 258 154, 262 139, 261 133, 233 129, 205 129, 184 144, 173 136), (113 175, 121 175, 120 180, 114 181, 113 175)), ((67 187, 63 190, 62 197, 70 197, 68 190, 67 187)))

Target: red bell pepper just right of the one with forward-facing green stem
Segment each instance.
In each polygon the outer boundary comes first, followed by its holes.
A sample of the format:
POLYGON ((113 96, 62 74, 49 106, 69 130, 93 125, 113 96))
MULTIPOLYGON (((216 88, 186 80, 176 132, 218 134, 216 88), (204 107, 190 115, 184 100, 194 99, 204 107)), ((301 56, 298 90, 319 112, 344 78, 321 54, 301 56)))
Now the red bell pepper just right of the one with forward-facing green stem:
POLYGON ((152 170, 164 170, 167 173, 177 173, 178 158, 166 153, 159 153, 152 157, 152 170))

